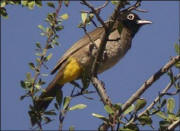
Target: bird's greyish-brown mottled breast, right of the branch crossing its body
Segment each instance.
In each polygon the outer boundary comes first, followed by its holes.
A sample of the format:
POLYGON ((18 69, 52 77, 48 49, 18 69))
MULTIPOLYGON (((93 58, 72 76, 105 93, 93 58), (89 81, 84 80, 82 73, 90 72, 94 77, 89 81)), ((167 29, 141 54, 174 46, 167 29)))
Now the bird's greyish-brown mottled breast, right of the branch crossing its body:
POLYGON ((121 34, 118 30, 112 32, 109 41, 107 41, 98 72, 101 73, 114 66, 130 49, 131 40, 130 34, 126 30, 122 30, 121 34))

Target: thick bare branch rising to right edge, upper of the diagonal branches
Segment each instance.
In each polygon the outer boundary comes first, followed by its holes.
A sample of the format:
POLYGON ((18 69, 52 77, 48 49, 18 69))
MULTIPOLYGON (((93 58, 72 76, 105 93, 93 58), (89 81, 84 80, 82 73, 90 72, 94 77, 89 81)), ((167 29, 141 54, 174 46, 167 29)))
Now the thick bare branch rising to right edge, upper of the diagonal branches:
POLYGON ((152 75, 144 84, 134 93, 122 106, 122 112, 120 115, 134 103, 156 80, 158 80, 164 73, 166 73, 175 63, 180 61, 180 55, 171 58, 161 69, 159 69, 154 75, 152 75))

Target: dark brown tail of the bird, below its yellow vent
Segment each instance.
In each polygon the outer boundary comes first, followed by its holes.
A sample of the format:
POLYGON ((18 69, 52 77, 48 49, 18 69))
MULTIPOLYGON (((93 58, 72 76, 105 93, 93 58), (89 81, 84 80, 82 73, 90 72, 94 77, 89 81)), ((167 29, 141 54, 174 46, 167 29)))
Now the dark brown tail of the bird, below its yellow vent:
POLYGON ((53 80, 37 100, 37 109, 40 111, 46 110, 53 98, 56 97, 56 93, 61 91, 62 87, 63 85, 59 85, 57 82, 55 82, 55 80, 53 80))

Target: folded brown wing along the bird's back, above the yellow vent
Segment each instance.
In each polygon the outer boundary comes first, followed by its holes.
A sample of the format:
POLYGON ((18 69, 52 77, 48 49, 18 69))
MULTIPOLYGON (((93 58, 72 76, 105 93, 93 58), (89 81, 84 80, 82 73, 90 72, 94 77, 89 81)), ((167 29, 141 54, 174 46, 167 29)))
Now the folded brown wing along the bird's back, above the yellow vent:
MULTIPOLYGON (((91 39, 93 41, 97 40, 100 37, 100 34, 104 32, 104 28, 98 27, 92 32, 89 33, 91 39)), ((83 48, 84 46, 88 45, 90 43, 90 40, 87 35, 82 37, 79 41, 77 41, 74 45, 71 46, 70 49, 66 51, 66 53, 59 59, 54 69, 51 71, 51 74, 54 74, 61 65, 75 52, 77 52, 79 49, 83 48)))

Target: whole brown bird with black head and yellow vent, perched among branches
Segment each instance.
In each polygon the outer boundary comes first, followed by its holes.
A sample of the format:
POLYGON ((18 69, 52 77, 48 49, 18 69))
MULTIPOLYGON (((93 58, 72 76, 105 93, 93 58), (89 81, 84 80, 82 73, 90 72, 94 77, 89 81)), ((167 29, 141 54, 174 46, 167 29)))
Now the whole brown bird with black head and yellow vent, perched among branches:
MULTIPOLYGON (((132 12, 126 12, 120 15, 115 21, 109 35, 98 73, 104 72, 114 66, 131 48, 132 39, 140 27, 150 23, 152 22, 141 20, 138 15, 132 12)), ((43 101, 43 98, 55 97, 56 92, 60 91, 64 84, 81 78, 83 72, 89 69, 93 63, 104 32, 103 27, 97 27, 89 33, 95 45, 92 44, 92 41, 86 35, 77 41, 60 58, 51 72, 51 74, 57 72, 56 76, 37 101, 37 106, 40 110, 45 110, 52 101, 43 101)))

